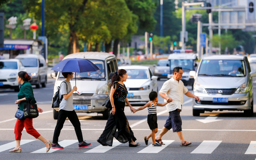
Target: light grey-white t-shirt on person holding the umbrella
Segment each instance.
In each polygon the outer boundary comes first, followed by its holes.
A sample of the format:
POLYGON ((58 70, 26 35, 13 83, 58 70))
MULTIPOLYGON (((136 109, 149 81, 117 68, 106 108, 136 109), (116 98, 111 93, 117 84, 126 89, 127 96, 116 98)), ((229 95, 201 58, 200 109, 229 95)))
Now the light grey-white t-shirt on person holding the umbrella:
MULTIPOLYGON (((60 89, 59 89, 59 95, 67 95, 69 92, 71 92, 72 88, 71 88, 71 84, 70 82, 64 80, 63 83, 61 83, 60 89), (66 83, 64 83, 66 82, 66 83)), ((65 100, 64 98, 61 100, 60 104, 59 104, 59 110, 67 110, 67 111, 72 111, 74 110, 73 107, 73 94, 67 99, 65 100)))

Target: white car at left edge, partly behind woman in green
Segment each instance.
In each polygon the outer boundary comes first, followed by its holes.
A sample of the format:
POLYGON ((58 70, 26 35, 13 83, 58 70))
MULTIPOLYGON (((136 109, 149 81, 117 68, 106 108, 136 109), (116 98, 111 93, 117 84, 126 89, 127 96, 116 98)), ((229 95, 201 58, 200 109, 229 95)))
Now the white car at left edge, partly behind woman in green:
POLYGON ((18 72, 26 71, 20 60, 0 60, 0 88, 11 88, 15 92, 20 91, 18 72))

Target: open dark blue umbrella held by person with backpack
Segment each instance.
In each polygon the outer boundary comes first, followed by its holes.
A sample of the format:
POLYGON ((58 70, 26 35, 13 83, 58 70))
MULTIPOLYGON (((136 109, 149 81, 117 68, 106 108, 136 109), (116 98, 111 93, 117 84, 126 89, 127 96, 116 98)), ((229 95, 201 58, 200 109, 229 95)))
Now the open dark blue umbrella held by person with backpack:
MULTIPOLYGON (((82 73, 82 72, 92 72, 100 70, 95 64, 93 64, 90 60, 82 59, 82 58, 68 58, 62 60, 51 70, 59 71, 59 72, 75 72, 75 73, 82 73)), ((76 80, 75 74, 75 80, 76 80)), ((75 82, 77 85, 77 82, 75 82)))

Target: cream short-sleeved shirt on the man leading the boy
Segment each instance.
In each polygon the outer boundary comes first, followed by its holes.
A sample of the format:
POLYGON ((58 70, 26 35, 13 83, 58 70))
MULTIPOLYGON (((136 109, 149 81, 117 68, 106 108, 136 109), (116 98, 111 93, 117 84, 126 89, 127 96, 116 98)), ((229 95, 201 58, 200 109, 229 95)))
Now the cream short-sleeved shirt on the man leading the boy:
MULTIPOLYGON (((182 109, 183 103, 183 94, 187 93, 188 89, 184 86, 184 83, 179 80, 175 80, 173 77, 166 82, 161 87, 159 93, 164 93, 167 97, 172 98, 172 102, 167 103, 166 109, 168 112, 171 112, 176 109, 182 109)), ((164 99, 164 102, 166 100, 164 99)))

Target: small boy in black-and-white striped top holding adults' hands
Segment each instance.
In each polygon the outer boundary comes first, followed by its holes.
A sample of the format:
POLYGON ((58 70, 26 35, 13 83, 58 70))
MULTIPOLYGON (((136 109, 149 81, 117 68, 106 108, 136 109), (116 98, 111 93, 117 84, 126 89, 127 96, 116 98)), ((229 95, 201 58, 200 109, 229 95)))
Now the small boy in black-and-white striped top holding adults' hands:
MULTIPOLYGON (((157 102, 157 92, 156 91, 152 91, 149 93, 149 102, 147 102, 146 105, 144 105, 143 107, 139 107, 138 109, 136 109, 135 112, 139 111, 139 110, 143 110, 146 107, 148 107, 148 126, 151 129, 151 133, 148 136, 144 137, 145 143, 146 145, 148 145, 148 140, 150 137, 152 137, 152 145, 155 147, 158 146, 162 146, 158 143, 156 143, 155 137, 156 137, 156 133, 158 132, 158 127, 157 127, 157 116, 156 116, 156 106, 165 106, 167 104, 167 102, 164 103, 158 103, 157 102)), ((169 102, 169 101, 168 101, 169 102)), ((134 113, 135 113, 134 112, 134 113)))

